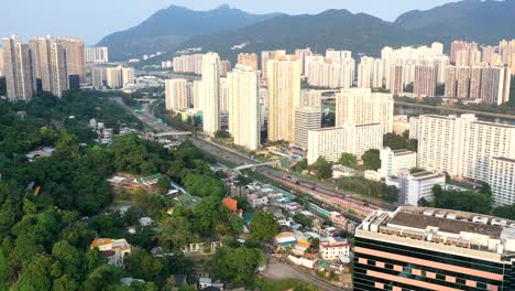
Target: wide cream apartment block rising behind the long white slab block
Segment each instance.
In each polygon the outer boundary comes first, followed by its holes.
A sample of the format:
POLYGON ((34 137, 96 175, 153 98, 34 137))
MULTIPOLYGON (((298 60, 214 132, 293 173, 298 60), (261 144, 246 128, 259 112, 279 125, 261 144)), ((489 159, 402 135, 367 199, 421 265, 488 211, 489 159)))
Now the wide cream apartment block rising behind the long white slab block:
POLYGON ((383 134, 393 131, 392 94, 363 88, 342 89, 336 96, 336 126, 380 123, 383 134))

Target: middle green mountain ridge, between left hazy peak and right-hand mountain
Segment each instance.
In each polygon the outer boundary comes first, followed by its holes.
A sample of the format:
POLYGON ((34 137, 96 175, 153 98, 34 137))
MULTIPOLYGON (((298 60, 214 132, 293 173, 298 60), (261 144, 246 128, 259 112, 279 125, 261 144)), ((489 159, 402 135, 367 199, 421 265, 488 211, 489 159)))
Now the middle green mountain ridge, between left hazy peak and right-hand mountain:
POLYGON ((328 10, 320 14, 281 15, 246 28, 191 37, 179 47, 202 47, 231 56, 230 47, 248 43, 245 52, 272 48, 293 50, 309 46, 321 52, 328 47, 376 53, 384 45, 401 45, 410 33, 391 22, 348 10, 328 10))

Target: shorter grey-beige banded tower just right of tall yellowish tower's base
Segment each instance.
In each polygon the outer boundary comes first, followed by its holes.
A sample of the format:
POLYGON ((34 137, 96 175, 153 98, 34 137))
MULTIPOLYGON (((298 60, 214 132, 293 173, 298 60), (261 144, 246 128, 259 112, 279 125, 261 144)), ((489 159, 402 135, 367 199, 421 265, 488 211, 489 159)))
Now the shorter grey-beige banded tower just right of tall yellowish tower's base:
POLYGON ((308 131, 321 128, 320 107, 302 106, 295 109, 295 146, 308 149, 308 131))

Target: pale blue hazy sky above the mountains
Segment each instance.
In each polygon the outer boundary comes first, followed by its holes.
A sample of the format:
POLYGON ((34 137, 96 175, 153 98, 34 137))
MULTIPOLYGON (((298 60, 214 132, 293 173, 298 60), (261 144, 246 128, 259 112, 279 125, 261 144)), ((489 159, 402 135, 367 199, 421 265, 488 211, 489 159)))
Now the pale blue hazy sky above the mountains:
POLYGON ((208 10, 222 3, 254 13, 318 13, 327 9, 365 12, 394 20, 413 9, 451 0, 1 0, 0 35, 73 35, 95 44, 102 36, 136 25, 171 4, 208 10))

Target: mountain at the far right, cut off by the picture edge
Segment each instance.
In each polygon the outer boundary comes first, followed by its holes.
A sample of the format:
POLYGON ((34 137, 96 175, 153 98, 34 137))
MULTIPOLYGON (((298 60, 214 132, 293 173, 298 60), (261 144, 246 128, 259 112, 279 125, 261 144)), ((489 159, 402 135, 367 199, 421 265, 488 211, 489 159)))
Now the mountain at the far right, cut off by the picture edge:
POLYGON ((464 0, 406 12, 394 24, 415 33, 418 40, 460 39, 494 44, 515 36, 514 19, 515 0, 464 0))

